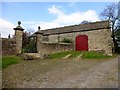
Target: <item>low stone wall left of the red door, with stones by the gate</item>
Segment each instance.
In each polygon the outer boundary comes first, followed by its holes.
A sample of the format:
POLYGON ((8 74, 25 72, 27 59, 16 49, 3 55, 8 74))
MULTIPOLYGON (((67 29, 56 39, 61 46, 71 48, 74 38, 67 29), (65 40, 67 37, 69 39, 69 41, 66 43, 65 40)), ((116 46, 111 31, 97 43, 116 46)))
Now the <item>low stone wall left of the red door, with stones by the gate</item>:
POLYGON ((36 59, 36 58, 45 58, 45 56, 48 56, 51 53, 57 53, 62 51, 69 51, 74 50, 73 44, 67 44, 67 43, 48 43, 43 42, 42 47, 39 48, 38 53, 23 53, 24 59, 36 59))

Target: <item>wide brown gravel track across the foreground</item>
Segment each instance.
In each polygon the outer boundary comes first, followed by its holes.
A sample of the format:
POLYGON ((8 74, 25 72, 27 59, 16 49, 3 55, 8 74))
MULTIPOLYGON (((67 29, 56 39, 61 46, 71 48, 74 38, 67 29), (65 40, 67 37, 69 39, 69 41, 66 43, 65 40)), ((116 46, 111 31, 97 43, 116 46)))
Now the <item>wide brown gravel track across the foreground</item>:
POLYGON ((5 88, 118 88, 118 58, 23 61, 2 78, 5 88))

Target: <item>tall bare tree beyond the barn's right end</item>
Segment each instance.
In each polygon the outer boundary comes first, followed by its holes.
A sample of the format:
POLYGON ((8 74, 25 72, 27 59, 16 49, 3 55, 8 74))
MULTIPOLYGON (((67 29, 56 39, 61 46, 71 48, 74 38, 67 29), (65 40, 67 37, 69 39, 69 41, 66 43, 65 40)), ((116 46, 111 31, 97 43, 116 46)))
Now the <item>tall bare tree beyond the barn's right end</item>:
POLYGON ((118 19, 118 4, 111 3, 110 5, 107 5, 106 8, 101 12, 100 16, 102 16, 105 20, 111 21, 111 27, 112 27, 112 38, 114 42, 114 51, 117 50, 117 42, 115 40, 115 22, 118 19))

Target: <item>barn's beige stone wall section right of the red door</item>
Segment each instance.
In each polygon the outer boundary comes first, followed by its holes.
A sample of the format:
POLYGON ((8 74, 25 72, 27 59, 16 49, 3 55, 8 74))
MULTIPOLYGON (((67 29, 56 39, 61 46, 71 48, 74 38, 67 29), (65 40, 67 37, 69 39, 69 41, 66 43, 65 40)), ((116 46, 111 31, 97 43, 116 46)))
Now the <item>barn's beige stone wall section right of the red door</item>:
POLYGON ((89 51, 104 50, 105 54, 112 55, 113 42, 110 29, 77 33, 77 35, 81 34, 88 36, 89 51))

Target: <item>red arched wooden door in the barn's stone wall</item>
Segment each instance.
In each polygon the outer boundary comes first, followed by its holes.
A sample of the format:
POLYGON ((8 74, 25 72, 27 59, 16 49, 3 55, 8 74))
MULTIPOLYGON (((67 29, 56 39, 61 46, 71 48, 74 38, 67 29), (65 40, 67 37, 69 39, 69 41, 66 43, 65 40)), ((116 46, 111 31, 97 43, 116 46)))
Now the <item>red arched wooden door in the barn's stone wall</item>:
POLYGON ((78 35, 76 37, 76 51, 88 51, 88 36, 78 35))

